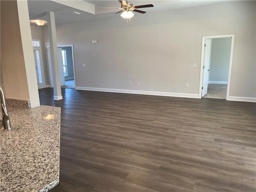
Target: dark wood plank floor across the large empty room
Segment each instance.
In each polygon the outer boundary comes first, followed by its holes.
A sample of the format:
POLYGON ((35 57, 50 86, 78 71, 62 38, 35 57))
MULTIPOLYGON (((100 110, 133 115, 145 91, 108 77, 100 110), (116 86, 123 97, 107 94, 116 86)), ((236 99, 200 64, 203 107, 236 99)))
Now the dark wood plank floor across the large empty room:
POLYGON ((51 192, 255 192, 256 104, 52 88, 61 107, 51 192))

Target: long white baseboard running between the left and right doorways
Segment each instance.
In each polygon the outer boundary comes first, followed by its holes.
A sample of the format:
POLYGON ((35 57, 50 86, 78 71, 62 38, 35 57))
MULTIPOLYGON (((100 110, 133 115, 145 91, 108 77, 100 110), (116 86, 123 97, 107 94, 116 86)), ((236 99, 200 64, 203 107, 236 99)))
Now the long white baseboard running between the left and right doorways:
POLYGON ((86 91, 101 91, 101 92, 157 95, 157 96, 170 96, 170 97, 200 98, 200 96, 198 94, 186 94, 186 93, 139 91, 139 90, 125 90, 125 89, 106 89, 106 88, 93 88, 93 87, 75 87, 75 89, 76 90, 86 90, 86 91))

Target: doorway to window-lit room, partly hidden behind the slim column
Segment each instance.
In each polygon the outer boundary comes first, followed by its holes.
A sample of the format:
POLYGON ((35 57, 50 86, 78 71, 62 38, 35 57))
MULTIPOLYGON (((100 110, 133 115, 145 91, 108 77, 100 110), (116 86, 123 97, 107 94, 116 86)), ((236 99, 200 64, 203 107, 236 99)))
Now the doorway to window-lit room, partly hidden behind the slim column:
MULTIPOLYGON (((47 46, 50 81, 52 84, 52 64, 50 60, 50 46, 47 46)), ((61 88, 75 88, 74 57, 72 45, 58 46, 58 64, 60 71, 61 88)))

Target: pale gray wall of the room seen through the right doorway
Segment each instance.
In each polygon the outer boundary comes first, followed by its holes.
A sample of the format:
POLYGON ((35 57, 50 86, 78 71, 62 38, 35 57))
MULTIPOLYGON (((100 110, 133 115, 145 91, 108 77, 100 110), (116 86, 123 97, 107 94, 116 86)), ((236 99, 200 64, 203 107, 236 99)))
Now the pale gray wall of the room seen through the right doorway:
POLYGON ((212 39, 210 81, 228 81, 232 38, 212 39))

